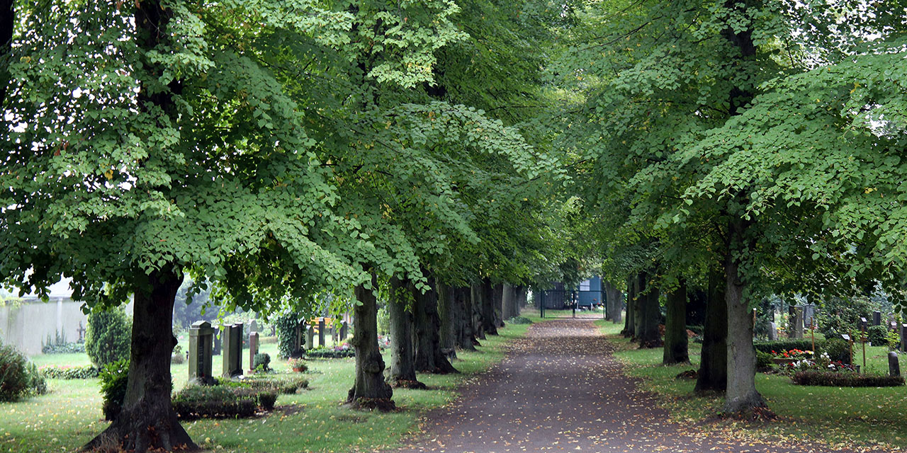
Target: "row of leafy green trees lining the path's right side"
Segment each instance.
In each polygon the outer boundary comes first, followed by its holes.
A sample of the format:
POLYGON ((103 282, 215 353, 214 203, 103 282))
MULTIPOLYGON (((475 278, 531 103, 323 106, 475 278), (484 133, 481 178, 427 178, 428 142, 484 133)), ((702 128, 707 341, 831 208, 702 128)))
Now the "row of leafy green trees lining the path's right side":
MULTIPOLYGON (((765 413, 752 309, 769 294, 872 294, 907 275, 902 1, 615 1, 576 10, 555 71, 561 147, 628 335, 658 345, 707 297, 698 389, 765 413), (692 291, 689 293, 692 294, 692 291)), ((676 336, 675 336, 676 335, 676 336)), ((679 350, 680 348, 678 348, 679 350)))

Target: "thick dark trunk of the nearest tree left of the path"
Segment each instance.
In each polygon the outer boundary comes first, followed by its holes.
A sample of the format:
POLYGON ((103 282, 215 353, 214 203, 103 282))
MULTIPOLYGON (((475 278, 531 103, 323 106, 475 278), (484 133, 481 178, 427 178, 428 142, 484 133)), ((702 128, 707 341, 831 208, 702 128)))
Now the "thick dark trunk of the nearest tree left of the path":
POLYGON ((85 449, 111 444, 140 453, 198 449, 171 406, 173 301, 182 274, 168 268, 146 278, 147 284, 136 287, 133 297, 129 381, 122 410, 85 449))

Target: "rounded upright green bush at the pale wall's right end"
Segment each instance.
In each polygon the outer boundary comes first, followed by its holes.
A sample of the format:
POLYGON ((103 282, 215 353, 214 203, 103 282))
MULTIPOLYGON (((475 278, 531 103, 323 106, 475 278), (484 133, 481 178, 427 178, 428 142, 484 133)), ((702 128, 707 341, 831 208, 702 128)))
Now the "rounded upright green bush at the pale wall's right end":
POLYGON ((129 318, 122 308, 89 313, 85 352, 94 366, 103 368, 114 361, 129 360, 131 331, 129 318))

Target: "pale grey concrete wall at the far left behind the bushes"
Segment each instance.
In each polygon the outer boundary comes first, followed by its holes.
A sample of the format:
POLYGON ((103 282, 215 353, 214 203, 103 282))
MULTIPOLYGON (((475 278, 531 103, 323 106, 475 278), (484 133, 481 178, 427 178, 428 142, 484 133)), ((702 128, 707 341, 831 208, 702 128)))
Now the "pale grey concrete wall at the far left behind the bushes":
POLYGON ((75 342, 79 339, 79 323, 83 328, 88 326, 88 317, 81 307, 82 303, 63 298, 15 308, 0 307, 0 341, 26 355, 40 354, 48 334, 53 339, 57 332, 64 333, 67 342, 75 342))

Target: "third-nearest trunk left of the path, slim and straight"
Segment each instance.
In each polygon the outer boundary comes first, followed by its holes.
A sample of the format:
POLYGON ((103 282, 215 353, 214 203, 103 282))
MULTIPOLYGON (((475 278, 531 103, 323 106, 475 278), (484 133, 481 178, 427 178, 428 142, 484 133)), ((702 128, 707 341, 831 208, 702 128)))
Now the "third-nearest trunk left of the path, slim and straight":
POLYGON ((391 363, 387 382, 391 387, 425 389, 425 384, 415 377, 415 353, 413 347, 413 313, 406 310, 410 301, 411 284, 397 277, 390 279, 390 300, 387 312, 390 315, 391 363))

